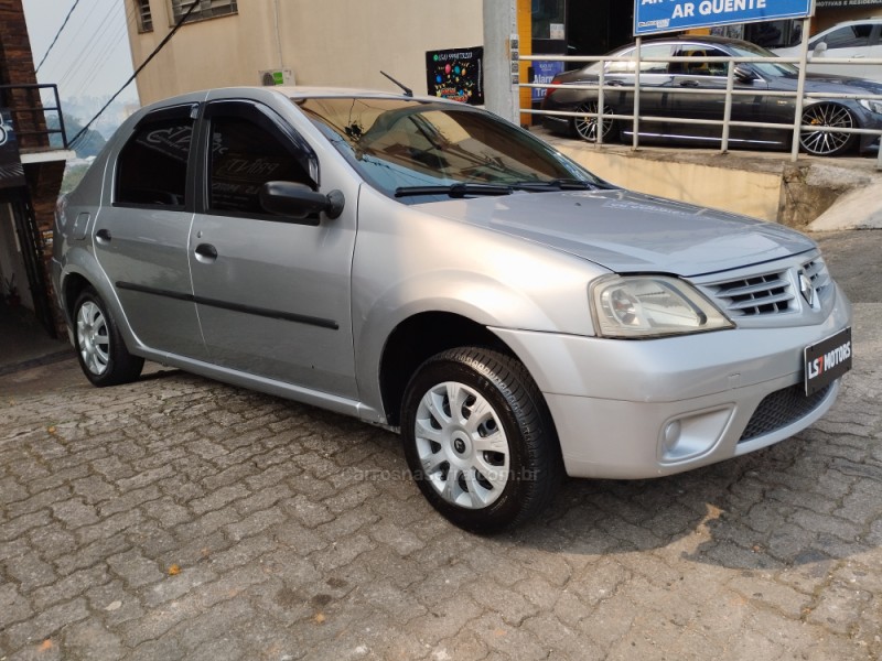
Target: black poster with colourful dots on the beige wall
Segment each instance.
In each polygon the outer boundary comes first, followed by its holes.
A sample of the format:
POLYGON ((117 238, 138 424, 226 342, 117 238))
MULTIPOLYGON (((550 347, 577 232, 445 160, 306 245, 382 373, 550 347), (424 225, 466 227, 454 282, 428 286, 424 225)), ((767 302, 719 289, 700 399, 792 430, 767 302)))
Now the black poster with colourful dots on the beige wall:
POLYGON ((451 48, 426 53, 429 96, 472 106, 484 104, 484 47, 451 48))

